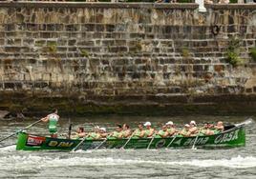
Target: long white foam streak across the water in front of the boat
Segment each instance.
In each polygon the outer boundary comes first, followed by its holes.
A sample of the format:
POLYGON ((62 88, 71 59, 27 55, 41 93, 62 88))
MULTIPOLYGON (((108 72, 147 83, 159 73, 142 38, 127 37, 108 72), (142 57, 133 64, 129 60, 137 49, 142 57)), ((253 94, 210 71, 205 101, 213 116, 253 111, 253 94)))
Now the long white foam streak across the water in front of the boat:
POLYGON ((150 164, 162 166, 195 166, 199 168, 225 167, 225 168, 255 168, 256 158, 234 157, 231 159, 220 160, 191 160, 191 161, 148 161, 148 160, 124 160, 111 157, 106 158, 88 158, 88 157, 71 157, 70 158, 52 158, 42 156, 19 156, 11 155, 0 157, 0 166, 2 169, 41 169, 49 167, 72 167, 72 166, 119 166, 119 165, 137 165, 150 164))

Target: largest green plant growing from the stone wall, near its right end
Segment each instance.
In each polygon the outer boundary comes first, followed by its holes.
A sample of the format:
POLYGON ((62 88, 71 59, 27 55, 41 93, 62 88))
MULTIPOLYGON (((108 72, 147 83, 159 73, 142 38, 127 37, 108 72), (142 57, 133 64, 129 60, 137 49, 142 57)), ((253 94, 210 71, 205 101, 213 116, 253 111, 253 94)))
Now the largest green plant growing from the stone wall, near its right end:
POLYGON ((244 60, 239 56, 240 54, 240 39, 232 37, 228 42, 228 47, 225 52, 225 61, 233 67, 237 67, 244 63, 244 60))

